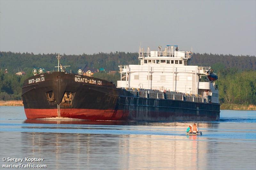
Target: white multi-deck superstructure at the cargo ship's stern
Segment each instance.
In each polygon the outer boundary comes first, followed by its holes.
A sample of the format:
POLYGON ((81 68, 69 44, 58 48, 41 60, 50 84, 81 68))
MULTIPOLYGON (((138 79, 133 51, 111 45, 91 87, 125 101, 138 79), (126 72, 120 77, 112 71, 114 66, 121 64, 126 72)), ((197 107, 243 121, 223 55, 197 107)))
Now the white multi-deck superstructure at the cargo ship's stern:
POLYGON ((161 48, 148 48, 147 52, 140 48, 139 65, 120 65, 117 86, 211 96, 212 103, 219 103, 217 85, 207 78, 211 67, 190 66, 192 52, 178 51, 178 46, 167 45, 163 51, 161 48))

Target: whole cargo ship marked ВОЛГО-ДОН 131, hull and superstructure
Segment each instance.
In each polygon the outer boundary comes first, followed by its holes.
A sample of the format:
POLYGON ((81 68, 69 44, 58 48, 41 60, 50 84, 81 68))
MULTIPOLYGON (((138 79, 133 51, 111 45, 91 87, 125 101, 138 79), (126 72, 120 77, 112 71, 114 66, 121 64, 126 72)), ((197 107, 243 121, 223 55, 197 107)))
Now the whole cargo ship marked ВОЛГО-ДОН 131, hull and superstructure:
POLYGON ((117 86, 91 71, 68 73, 33 70, 22 99, 27 119, 75 118, 103 121, 218 121, 217 76, 211 67, 190 66, 192 52, 167 45, 147 52, 139 48, 138 65, 119 65, 117 86))

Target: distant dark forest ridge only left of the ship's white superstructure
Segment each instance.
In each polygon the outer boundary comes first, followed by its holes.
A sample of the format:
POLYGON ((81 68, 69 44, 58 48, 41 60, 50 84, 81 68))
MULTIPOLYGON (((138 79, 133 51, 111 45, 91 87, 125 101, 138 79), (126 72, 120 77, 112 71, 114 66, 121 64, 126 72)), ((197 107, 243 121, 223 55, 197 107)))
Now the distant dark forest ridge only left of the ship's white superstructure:
MULTIPOLYGON (((22 71, 31 72, 33 68, 44 68, 46 71, 57 70, 58 54, 33 54, 33 53, 12 53, 0 52, 0 69, 7 69, 9 72, 22 71)), ((118 70, 118 65, 138 64, 138 53, 98 53, 93 55, 61 55, 60 63, 62 65, 71 65, 67 67, 73 73, 78 69, 87 67, 104 68, 106 71, 118 70)))

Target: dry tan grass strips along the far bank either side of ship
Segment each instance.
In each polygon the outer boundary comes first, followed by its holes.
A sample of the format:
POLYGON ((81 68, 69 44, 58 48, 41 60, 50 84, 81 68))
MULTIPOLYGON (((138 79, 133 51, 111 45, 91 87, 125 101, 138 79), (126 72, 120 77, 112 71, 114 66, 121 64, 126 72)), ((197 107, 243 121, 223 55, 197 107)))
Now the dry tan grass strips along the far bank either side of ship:
MULTIPOLYGON (((0 100, 0 106, 23 106, 22 100, 0 100)), ((256 105, 222 104, 220 110, 256 110, 256 105)))

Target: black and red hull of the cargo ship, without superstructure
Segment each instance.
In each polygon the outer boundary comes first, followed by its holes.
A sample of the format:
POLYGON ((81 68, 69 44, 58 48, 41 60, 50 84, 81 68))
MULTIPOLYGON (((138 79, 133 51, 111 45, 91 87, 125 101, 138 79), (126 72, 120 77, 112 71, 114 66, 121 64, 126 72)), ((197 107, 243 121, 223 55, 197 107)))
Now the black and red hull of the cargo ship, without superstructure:
POLYGON ((220 105, 142 98, 108 81, 64 72, 25 80, 28 119, 68 117, 111 121, 218 121, 220 105))

